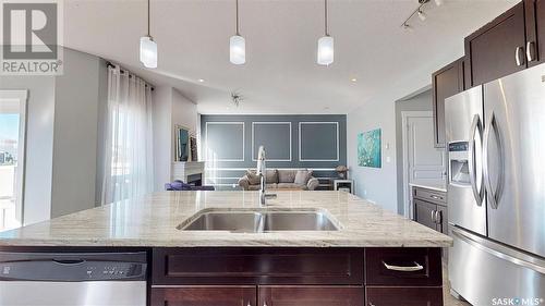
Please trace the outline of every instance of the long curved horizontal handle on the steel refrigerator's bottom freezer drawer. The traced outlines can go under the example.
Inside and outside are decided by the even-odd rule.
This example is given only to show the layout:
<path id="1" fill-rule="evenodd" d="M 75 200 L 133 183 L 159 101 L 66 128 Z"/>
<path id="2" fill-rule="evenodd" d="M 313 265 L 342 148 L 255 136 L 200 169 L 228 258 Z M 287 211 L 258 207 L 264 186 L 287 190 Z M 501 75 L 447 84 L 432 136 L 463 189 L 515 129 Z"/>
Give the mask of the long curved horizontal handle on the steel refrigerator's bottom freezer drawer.
<path id="1" fill-rule="evenodd" d="M 513 252 L 501 245 L 496 245 L 495 243 L 482 238 L 472 233 L 462 231 L 457 227 L 452 227 L 452 234 L 458 238 L 471 244 L 472 246 L 480 248 L 488 254 L 492 254 L 504 260 L 508 260 L 517 266 L 521 266 L 528 269 L 532 269 L 538 273 L 545 273 L 545 261 L 533 256 L 521 254 L 519 252 Z"/>

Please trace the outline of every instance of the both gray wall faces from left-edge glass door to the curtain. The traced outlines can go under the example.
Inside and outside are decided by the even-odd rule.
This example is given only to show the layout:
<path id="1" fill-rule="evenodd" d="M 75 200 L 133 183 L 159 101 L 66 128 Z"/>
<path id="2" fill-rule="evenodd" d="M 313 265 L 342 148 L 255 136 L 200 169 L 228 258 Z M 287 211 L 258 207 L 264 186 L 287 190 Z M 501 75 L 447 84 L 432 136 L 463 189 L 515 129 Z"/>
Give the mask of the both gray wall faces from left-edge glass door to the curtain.
<path id="1" fill-rule="evenodd" d="M 25 224 L 95 205 L 100 62 L 64 49 L 63 76 L 0 76 L 0 89 L 28 89 Z"/>

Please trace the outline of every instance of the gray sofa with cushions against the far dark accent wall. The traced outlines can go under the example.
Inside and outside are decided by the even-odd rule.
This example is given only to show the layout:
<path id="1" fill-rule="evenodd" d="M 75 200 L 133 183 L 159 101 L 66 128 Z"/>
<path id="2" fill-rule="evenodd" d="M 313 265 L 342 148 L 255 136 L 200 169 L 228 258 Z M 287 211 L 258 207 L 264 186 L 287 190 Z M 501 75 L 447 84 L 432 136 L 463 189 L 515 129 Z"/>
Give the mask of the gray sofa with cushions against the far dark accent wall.
<path id="1" fill-rule="evenodd" d="M 314 191 L 318 187 L 318 179 L 312 176 L 312 170 L 277 170 L 270 169 L 265 172 L 267 189 L 302 189 Z M 246 171 L 239 179 L 239 186 L 244 191 L 258 191 L 261 186 L 259 176 L 255 171 Z"/>

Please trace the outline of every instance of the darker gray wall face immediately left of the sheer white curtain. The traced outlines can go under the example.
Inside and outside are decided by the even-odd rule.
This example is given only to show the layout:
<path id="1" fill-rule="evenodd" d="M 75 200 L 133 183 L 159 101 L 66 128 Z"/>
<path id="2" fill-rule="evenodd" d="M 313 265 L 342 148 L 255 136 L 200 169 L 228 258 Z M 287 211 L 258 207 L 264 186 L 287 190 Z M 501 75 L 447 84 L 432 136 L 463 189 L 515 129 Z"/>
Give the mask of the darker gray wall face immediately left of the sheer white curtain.
<path id="1" fill-rule="evenodd" d="M 95 207 L 100 63 L 65 50 L 56 78 L 51 218 Z"/>

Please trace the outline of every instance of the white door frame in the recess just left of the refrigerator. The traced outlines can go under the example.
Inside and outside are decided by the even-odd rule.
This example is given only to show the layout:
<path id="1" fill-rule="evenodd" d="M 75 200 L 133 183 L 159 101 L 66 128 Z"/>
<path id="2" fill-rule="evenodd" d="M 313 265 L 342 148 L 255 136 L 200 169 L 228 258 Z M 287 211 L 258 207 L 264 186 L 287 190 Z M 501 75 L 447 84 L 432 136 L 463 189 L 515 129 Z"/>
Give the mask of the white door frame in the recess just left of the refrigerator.
<path id="1" fill-rule="evenodd" d="M 433 111 L 402 111 L 401 112 L 401 137 L 403 149 L 403 216 L 413 219 L 414 209 L 411 200 L 411 188 L 409 186 L 409 118 L 429 117 L 433 119 Z"/>

